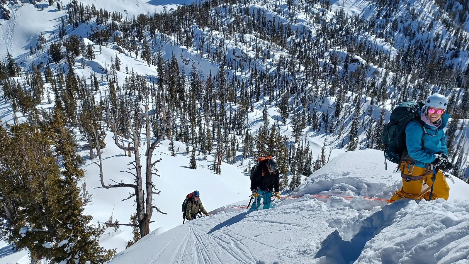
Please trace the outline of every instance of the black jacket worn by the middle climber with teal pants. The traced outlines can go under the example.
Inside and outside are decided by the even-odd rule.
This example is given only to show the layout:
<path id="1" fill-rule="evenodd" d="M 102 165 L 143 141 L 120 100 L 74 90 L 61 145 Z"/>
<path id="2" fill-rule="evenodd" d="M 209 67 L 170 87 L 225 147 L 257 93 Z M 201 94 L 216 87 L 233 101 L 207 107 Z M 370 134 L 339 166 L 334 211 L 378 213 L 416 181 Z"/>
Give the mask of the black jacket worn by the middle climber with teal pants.
<path id="1" fill-rule="evenodd" d="M 263 160 L 257 166 L 252 167 L 251 169 L 251 190 L 257 190 L 257 187 L 264 191 L 266 188 L 269 189 L 269 192 L 275 187 L 275 192 L 279 191 L 279 170 L 275 170 L 272 173 L 269 173 L 267 169 L 267 161 Z M 264 172 L 264 176 L 262 176 Z"/>

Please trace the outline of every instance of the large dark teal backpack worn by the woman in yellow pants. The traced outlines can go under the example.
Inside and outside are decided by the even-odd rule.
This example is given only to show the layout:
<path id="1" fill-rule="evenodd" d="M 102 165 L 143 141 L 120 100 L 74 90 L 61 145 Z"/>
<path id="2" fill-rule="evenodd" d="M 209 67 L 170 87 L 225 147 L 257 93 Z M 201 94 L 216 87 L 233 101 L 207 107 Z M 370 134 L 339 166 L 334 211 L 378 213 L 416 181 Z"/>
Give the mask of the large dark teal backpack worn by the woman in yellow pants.
<path id="1" fill-rule="evenodd" d="M 383 132 L 381 133 L 381 141 L 385 144 L 384 156 L 389 161 L 397 164 L 401 163 L 402 154 L 407 150 L 406 126 L 412 120 L 415 120 L 422 127 L 423 145 L 424 129 L 422 120 L 418 115 L 419 110 L 418 103 L 404 102 L 391 112 L 389 123 L 384 126 Z"/>

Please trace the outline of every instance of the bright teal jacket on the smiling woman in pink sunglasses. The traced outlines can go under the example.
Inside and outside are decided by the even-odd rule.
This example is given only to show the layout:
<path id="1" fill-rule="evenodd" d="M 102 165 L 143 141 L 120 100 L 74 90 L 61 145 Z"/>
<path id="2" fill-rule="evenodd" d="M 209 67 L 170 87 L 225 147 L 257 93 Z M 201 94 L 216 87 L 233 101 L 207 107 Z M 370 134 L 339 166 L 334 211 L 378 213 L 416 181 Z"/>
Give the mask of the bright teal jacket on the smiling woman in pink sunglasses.
<path id="1" fill-rule="evenodd" d="M 423 104 L 420 105 L 422 109 Z M 419 111 L 419 116 L 420 116 Z M 424 121 L 424 131 L 420 124 L 416 121 L 411 121 L 406 126 L 406 145 L 408 155 L 415 159 L 415 165 L 420 168 L 425 168 L 425 163 L 432 163 L 435 161 L 435 154 L 445 154 L 448 156 L 448 149 L 446 148 L 446 136 L 443 128 L 448 123 L 449 115 L 443 113 L 441 116 L 441 125 L 436 128 Z M 422 135 L 424 146 L 422 146 Z"/>

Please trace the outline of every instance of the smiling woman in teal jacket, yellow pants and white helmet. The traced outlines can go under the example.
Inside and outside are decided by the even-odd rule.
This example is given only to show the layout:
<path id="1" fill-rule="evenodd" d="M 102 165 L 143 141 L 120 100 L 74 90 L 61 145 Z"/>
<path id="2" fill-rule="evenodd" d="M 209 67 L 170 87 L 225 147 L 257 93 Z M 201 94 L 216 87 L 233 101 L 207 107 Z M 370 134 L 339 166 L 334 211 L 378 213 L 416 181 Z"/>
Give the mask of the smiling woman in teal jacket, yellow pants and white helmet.
<path id="1" fill-rule="evenodd" d="M 434 166 L 441 170 L 451 169 L 448 162 L 448 149 L 443 128 L 448 123 L 449 115 L 445 113 L 448 100 L 435 93 L 428 97 L 425 104 L 420 103 L 420 120 L 409 122 L 406 126 L 407 153 L 399 165 L 402 176 L 402 188 L 396 191 L 390 202 L 401 198 L 429 200 L 430 193 L 422 193 L 423 182 L 433 184 L 431 199 L 449 197 L 449 186 L 441 171 L 432 182 Z M 419 197 L 421 196 L 421 197 Z"/>

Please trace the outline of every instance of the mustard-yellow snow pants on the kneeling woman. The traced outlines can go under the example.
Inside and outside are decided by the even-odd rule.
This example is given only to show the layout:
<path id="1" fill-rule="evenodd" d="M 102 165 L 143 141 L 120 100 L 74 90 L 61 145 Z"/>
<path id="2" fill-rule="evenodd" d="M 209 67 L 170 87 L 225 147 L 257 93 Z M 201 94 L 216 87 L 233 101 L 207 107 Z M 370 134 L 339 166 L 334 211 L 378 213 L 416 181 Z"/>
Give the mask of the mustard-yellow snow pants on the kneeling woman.
<path id="1" fill-rule="evenodd" d="M 401 198 L 418 199 L 419 194 L 422 193 L 423 182 L 425 182 L 429 187 L 431 187 L 431 177 L 433 176 L 433 171 L 427 171 L 427 169 L 425 168 L 420 168 L 413 165 L 408 166 L 408 163 L 406 162 L 401 163 L 399 170 L 406 175 L 424 175 L 424 177 L 422 179 L 411 180 L 409 182 L 407 182 L 405 179 L 402 179 L 402 188 L 394 193 L 393 197 L 391 197 L 388 203 L 394 202 Z M 425 174 L 425 172 L 429 173 Z M 441 171 L 438 171 L 435 182 L 433 183 L 433 193 L 431 194 L 431 200 L 435 200 L 437 198 L 443 198 L 445 200 L 448 200 L 448 197 L 449 186 L 446 183 L 446 179 L 443 173 L 441 173 Z M 428 199 L 430 198 L 430 191 L 424 194 L 420 199 L 422 198 L 428 201 Z"/>

